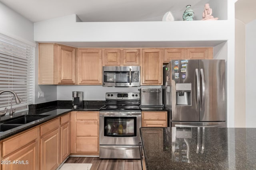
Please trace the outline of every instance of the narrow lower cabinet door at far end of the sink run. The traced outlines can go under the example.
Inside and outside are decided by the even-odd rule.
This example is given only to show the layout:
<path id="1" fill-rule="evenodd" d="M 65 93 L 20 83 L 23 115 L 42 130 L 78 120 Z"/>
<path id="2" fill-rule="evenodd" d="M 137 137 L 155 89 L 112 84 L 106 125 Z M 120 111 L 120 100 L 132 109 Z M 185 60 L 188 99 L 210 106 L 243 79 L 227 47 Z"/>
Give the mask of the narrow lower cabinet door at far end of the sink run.
<path id="1" fill-rule="evenodd" d="M 60 162 L 70 155 L 70 123 L 60 127 Z"/>

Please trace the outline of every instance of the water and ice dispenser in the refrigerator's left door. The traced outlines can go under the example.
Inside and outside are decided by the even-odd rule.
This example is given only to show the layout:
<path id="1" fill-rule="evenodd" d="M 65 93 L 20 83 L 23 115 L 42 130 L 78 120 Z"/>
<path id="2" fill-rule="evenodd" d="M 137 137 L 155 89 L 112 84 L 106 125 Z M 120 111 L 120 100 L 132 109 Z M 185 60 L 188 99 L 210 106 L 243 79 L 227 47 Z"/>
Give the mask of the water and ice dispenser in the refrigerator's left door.
<path id="1" fill-rule="evenodd" d="M 191 106 L 191 83 L 176 84 L 176 105 Z"/>

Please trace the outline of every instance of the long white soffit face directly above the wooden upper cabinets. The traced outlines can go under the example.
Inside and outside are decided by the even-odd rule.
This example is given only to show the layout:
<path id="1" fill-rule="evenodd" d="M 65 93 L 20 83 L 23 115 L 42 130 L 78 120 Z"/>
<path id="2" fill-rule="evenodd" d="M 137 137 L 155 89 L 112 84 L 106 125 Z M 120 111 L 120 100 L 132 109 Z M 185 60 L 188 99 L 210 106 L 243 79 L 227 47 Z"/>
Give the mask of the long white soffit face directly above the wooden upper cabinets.
<path id="1" fill-rule="evenodd" d="M 226 20 L 76 22 L 76 15 L 34 23 L 38 42 L 219 41 L 229 39 Z"/>

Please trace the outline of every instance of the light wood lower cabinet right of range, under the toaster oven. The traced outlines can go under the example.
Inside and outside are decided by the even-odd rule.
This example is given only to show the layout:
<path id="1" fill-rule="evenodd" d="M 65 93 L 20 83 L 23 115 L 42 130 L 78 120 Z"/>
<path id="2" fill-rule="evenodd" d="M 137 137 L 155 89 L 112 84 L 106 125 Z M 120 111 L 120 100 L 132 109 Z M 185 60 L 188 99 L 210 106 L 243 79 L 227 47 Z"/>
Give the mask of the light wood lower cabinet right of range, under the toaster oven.
<path id="1" fill-rule="evenodd" d="M 167 111 L 142 111 L 142 127 L 167 127 Z"/>

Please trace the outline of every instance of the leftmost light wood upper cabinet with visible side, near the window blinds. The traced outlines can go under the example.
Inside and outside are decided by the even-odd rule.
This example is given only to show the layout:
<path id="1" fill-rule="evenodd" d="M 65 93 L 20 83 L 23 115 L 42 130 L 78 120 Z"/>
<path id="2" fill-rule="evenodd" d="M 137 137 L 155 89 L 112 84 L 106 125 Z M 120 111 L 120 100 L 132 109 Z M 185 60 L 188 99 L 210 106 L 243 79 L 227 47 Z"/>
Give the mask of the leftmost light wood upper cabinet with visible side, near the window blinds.
<path id="1" fill-rule="evenodd" d="M 75 84 L 76 48 L 38 44 L 38 84 Z"/>

